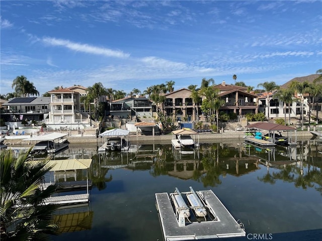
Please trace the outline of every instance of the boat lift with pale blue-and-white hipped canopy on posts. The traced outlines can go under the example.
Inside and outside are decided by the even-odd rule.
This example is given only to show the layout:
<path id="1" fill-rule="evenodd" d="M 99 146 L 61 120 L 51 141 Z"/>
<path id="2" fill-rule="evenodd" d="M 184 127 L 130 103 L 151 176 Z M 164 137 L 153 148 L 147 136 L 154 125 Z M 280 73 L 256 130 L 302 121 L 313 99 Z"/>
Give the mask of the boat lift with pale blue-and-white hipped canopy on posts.
<path id="1" fill-rule="evenodd" d="M 103 138 L 103 141 L 100 142 L 101 146 L 99 147 L 99 151 L 112 150 L 113 145 L 109 144 L 109 140 L 118 140 L 121 151 L 127 151 L 130 148 L 130 140 L 129 140 L 130 131 L 123 129 L 112 129 L 105 131 L 99 135 L 100 138 Z M 112 148 L 111 148 L 112 147 Z"/>

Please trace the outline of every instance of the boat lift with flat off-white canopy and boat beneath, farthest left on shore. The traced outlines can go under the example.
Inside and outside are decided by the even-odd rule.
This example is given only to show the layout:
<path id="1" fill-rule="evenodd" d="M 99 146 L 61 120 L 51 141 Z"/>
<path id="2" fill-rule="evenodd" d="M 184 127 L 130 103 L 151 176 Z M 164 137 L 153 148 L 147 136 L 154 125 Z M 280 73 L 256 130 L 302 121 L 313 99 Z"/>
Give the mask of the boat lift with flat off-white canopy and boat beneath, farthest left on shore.
<path id="1" fill-rule="evenodd" d="M 47 133 L 41 136 L 36 136 L 32 138 L 24 139 L 23 141 L 36 142 L 32 152 L 46 152 L 47 153 L 57 153 L 63 149 L 66 149 L 69 145 L 66 137 L 68 134 L 63 133 Z"/>

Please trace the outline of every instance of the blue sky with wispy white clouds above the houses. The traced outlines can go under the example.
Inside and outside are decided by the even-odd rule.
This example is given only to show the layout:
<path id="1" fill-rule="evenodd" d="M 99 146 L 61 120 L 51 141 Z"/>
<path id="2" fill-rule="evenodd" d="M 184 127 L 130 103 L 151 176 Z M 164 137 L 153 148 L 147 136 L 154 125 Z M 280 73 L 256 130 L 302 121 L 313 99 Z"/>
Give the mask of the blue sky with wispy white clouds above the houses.
<path id="1" fill-rule="evenodd" d="M 255 88 L 322 68 L 321 1 L 1 1 L 1 94 L 56 86 Z"/>

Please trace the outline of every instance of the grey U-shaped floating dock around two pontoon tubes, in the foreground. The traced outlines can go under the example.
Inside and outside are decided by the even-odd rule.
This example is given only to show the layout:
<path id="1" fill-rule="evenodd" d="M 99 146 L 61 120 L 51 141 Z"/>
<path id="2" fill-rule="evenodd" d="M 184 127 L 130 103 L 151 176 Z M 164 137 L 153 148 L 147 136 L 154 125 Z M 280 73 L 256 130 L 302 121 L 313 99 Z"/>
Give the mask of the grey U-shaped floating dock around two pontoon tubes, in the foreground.
<path id="1" fill-rule="evenodd" d="M 182 192 L 182 194 L 187 193 Z M 215 214 L 215 218 L 209 221 L 192 222 L 185 218 L 184 225 L 180 225 L 182 220 L 180 218 L 178 220 L 169 194 L 155 193 L 165 241 L 246 236 L 244 225 L 233 218 L 212 190 L 196 193 L 201 197 L 207 212 Z"/>

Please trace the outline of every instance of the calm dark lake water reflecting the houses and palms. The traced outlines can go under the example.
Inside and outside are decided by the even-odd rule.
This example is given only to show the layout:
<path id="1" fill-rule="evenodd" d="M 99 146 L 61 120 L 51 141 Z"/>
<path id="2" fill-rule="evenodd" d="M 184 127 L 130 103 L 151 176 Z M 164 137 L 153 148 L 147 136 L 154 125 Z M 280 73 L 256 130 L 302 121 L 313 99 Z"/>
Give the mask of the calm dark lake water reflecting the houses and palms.
<path id="1" fill-rule="evenodd" d="M 92 158 L 93 189 L 88 207 L 57 212 L 73 213 L 74 227 L 84 230 L 64 232 L 53 240 L 163 240 L 154 193 L 176 187 L 188 191 L 189 186 L 212 189 L 247 233 L 322 228 L 322 142 L 275 149 L 243 141 L 212 143 L 182 153 L 171 145 L 137 148 L 98 154 L 95 147 L 70 144 L 55 156 Z M 86 174 L 77 171 L 76 178 L 86 179 Z"/>

